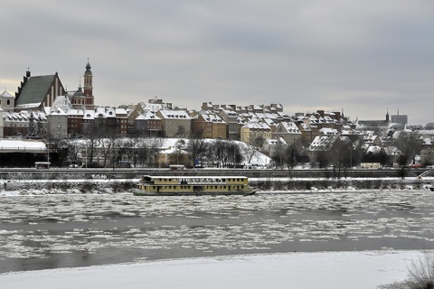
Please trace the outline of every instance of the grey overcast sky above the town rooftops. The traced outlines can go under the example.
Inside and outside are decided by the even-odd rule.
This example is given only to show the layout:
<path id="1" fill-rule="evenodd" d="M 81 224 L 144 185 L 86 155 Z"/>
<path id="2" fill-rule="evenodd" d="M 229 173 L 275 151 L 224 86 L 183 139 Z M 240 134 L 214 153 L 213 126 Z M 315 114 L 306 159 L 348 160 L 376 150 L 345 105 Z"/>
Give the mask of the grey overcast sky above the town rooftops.
<path id="1" fill-rule="evenodd" d="M 89 58 L 97 105 L 434 122 L 432 0 L 5 0 L 0 19 L 0 86 L 13 95 L 27 68 L 76 89 Z"/>

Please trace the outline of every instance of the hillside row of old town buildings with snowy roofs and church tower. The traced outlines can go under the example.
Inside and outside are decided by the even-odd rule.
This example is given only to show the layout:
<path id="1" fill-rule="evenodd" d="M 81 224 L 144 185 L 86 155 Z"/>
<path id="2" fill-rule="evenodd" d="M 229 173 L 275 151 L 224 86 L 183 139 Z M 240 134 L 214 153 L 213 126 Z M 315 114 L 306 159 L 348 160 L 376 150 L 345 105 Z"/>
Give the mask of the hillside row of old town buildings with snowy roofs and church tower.
<path id="1" fill-rule="evenodd" d="M 83 87 L 66 90 L 56 72 L 32 76 L 26 71 L 15 95 L 0 94 L 0 137 L 63 139 L 103 134 L 143 137 L 195 137 L 239 140 L 266 154 L 278 145 L 299 141 L 312 152 L 326 149 L 337 138 L 369 147 L 392 146 L 391 132 L 402 131 L 407 116 L 355 120 L 344 112 L 317 110 L 289 116 L 277 103 L 237 106 L 203 102 L 201 109 L 174 107 L 163 99 L 122 107 L 97 107 L 90 62 Z M 389 143 L 388 143 L 389 142 Z M 426 142 L 425 142 L 426 143 Z M 427 143 L 428 144 L 428 143 Z M 428 146 L 427 146 L 428 147 Z"/>

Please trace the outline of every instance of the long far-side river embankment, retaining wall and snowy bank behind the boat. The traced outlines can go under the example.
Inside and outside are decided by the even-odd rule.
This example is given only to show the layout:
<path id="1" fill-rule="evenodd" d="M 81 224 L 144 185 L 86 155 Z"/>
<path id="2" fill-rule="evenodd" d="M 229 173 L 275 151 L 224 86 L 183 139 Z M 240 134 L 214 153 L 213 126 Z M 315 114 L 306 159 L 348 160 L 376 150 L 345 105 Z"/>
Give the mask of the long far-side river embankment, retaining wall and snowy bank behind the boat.
<path id="1" fill-rule="evenodd" d="M 324 170 L 8 170 L 0 171 L 1 191 L 116 193 L 131 191 L 144 175 L 245 175 L 260 191 L 428 190 L 427 171 L 352 170 L 334 177 Z M 423 176 L 420 176 L 423 175 Z"/>

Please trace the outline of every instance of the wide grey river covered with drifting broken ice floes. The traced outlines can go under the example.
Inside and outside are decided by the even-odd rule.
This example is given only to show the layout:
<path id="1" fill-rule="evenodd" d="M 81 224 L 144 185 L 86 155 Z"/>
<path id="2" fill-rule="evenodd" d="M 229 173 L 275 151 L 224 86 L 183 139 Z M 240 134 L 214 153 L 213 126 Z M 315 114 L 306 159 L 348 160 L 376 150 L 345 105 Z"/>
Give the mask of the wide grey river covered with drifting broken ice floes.
<path id="1" fill-rule="evenodd" d="M 0 200 L 0 273 L 193 256 L 434 248 L 428 190 Z"/>

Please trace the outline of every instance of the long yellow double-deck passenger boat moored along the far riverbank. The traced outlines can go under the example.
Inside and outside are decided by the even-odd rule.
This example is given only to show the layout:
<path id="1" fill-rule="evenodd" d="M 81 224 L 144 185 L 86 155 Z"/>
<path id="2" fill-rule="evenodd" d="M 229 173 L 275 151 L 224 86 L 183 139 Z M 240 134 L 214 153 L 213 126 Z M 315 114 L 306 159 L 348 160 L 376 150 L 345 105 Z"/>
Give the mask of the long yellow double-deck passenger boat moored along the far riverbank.
<path id="1" fill-rule="evenodd" d="M 137 196 L 252 195 L 257 190 L 241 176 L 143 176 Z"/>

